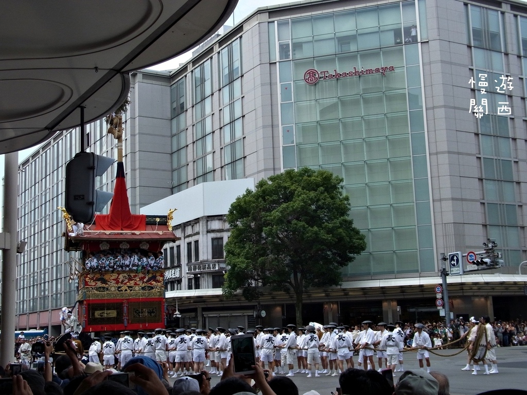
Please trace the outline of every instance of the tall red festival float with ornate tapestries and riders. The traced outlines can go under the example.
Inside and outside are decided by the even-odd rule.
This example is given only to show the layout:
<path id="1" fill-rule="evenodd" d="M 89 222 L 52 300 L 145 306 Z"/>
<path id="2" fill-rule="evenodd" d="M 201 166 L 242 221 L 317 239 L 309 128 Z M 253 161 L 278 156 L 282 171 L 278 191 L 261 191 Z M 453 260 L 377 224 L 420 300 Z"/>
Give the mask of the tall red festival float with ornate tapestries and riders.
<path id="1" fill-rule="evenodd" d="M 165 215 L 132 214 L 122 159 L 122 117 L 106 120 L 118 141 L 118 163 L 109 214 L 74 223 L 64 208 L 66 251 L 80 251 L 72 273 L 79 281 L 78 317 L 83 332 L 154 330 L 164 327 L 163 245 L 179 240 L 172 231 L 175 209 Z"/>

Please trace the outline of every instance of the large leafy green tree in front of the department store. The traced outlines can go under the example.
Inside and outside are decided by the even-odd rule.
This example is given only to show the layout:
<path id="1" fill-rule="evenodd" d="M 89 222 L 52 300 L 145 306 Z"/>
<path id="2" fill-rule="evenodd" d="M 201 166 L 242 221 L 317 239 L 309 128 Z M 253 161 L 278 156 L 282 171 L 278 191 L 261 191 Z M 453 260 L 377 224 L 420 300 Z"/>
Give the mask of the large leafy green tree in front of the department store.
<path id="1" fill-rule="evenodd" d="M 260 297 L 261 287 L 292 292 L 301 325 L 304 290 L 339 285 L 340 269 L 366 249 L 364 235 L 348 218 L 343 181 L 304 167 L 260 180 L 255 191 L 239 196 L 227 214 L 223 294 L 242 289 L 250 301 Z"/>

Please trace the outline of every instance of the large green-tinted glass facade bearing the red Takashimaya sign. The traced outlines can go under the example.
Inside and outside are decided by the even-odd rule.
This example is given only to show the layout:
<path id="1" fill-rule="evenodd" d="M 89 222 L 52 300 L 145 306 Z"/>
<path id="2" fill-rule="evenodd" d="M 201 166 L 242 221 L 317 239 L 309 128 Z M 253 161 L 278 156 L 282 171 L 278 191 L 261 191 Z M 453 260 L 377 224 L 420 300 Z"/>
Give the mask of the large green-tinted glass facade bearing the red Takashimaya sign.
<path id="1" fill-rule="evenodd" d="M 269 24 L 283 168 L 343 177 L 366 235 L 345 275 L 434 270 L 418 9 L 409 1 Z M 331 76 L 308 83 L 309 70 Z"/>

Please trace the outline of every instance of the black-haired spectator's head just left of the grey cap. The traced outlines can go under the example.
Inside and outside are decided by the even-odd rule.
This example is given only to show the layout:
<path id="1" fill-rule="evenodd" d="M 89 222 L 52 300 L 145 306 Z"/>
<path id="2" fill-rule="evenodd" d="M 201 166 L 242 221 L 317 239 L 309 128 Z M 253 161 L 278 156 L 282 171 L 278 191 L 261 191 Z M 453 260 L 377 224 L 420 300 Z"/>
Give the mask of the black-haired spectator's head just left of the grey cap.
<path id="1" fill-rule="evenodd" d="M 392 395 L 393 389 L 376 370 L 346 369 L 338 379 L 341 393 L 361 395 Z"/>

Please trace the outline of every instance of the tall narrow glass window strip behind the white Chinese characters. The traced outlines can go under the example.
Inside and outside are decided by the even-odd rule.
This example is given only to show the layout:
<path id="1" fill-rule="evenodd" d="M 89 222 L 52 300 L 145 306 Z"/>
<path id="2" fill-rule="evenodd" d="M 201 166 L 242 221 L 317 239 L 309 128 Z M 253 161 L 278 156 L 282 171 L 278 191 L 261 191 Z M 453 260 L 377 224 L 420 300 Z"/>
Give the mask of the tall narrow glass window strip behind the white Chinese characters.
<path id="1" fill-rule="evenodd" d="M 521 262 L 521 212 L 519 204 L 520 175 L 515 163 L 515 140 L 511 134 L 511 114 L 500 114 L 503 103 L 512 103 L 512 88 L 505 78 L 504 48 L 513 46 L 505 42 L 504 15 L 495 9 L 465 5 L 469 44 L 472 50 L 474 100 L 485 105 L 485 114 L 479 118 L 480 168 L 483 184 L 482 202 L 485 208 L 485 228 L 490 238 L 500 240 L 504 262 Z M 520 53 L 523 54 L 522 25 L 527 19 L 519 16 Z M 525 59 L 525 58 L 523 58 Z M 516 86 L 520 89 L 520 86 Z"/>

